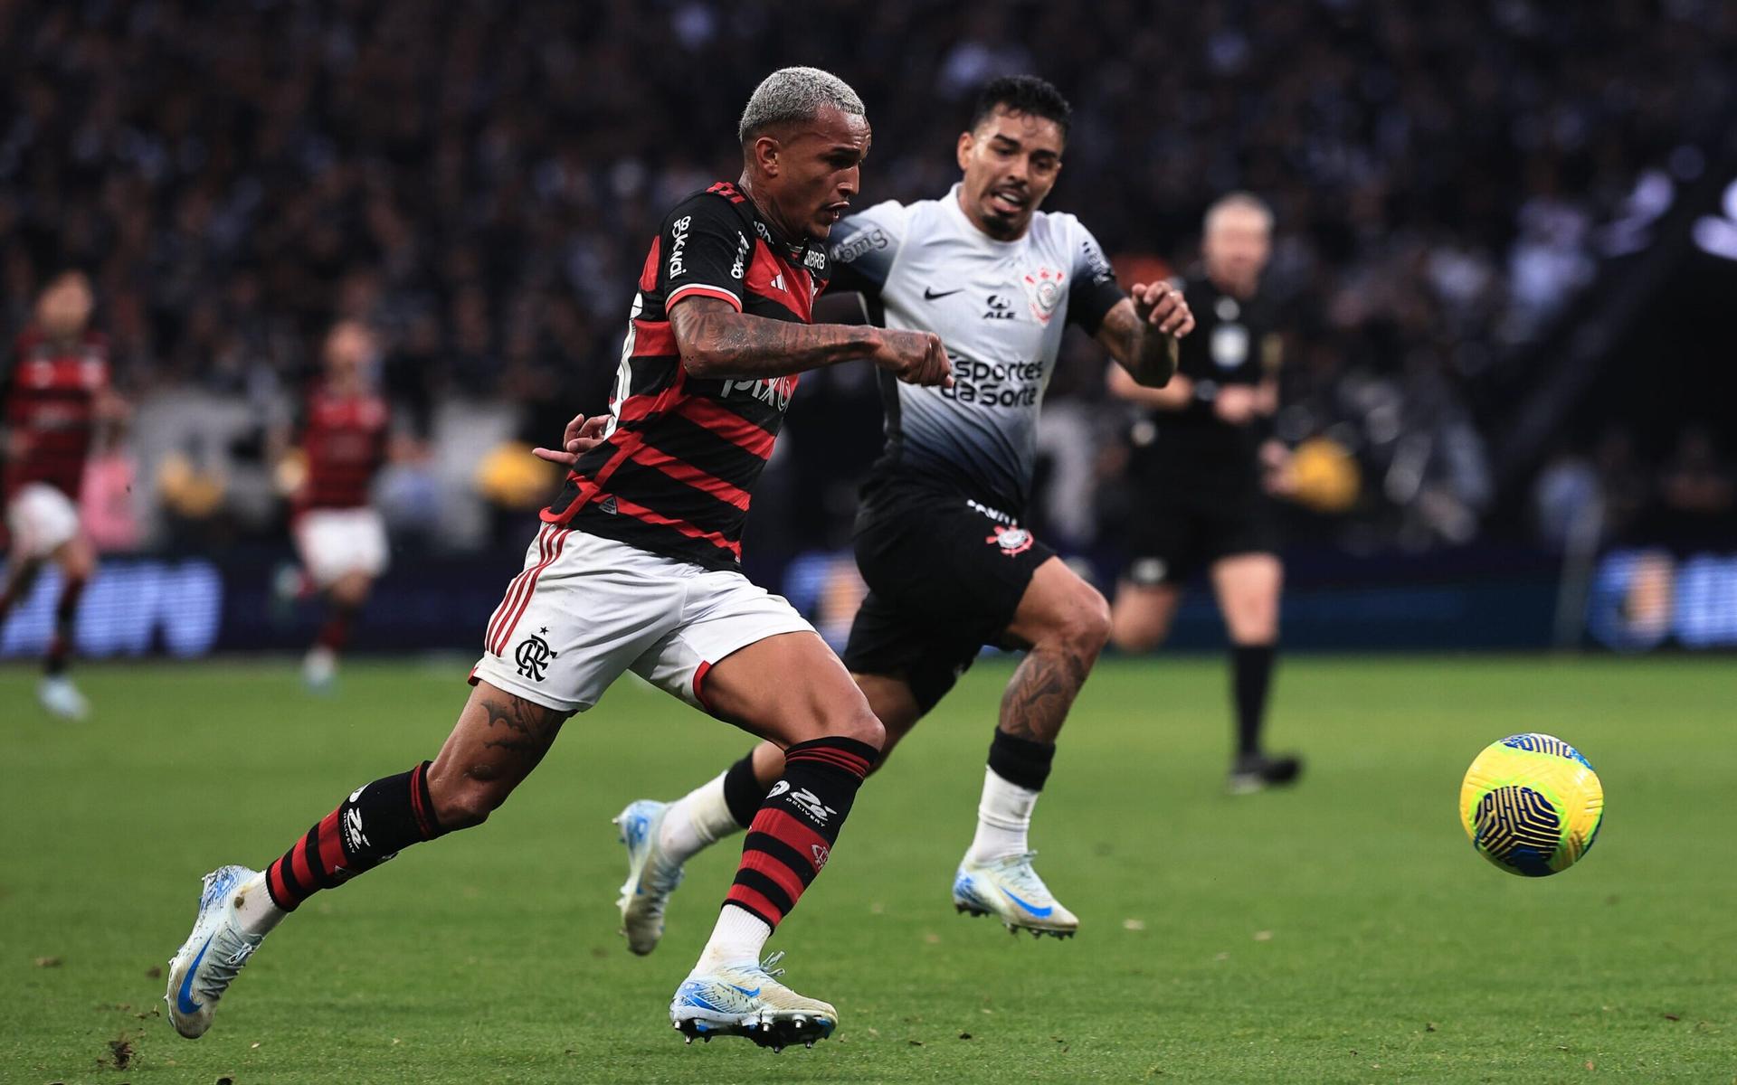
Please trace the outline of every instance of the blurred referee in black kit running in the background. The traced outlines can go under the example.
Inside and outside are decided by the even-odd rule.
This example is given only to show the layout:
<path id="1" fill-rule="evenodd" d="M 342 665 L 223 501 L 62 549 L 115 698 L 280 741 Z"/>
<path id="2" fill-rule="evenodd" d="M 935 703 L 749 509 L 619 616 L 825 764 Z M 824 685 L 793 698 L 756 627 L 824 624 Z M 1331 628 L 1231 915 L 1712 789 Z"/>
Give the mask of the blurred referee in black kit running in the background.
<path id="1" fill-rule="evenodd" d="M 1167 387 L 1139 387 L 1110 368 L 1110 391 L 1145 408 L 1133 432 L 1129 477 L 1138 488 L 1131 561 L 1117 585 L 1112 637 L 1150 651 L 1169 634 L 1188 578 L 1205 571 L 1230 634 L 1237 757 L 1230 790 L 1291 783 L 1296 757 L 1261 748 L 1278 648 L 1278 540 L 1263 464 L 1278 410 L 1280 337 L 1259 293 L 1273 215 L 1247 193 L 1205 214 L 1202 266 L 1183 293 L 1199 330 L 1183 342 Z M 1282 453 L 1280 453 L 1282 455 Z"/>

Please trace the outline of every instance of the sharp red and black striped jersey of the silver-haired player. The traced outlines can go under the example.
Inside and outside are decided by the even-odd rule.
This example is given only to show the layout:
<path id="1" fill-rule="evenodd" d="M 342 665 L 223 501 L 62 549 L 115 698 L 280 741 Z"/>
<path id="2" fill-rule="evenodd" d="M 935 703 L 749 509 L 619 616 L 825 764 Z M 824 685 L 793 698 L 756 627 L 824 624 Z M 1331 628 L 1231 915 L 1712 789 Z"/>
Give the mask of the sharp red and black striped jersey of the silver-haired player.
<path id="1" fill-rule="evenodd" d="M 809 323 L 827 252 L 789 241 L 736 186 L 679 203 L 651 241 L 601 444 L 568 472 L 542 517 L 709 569 L 742 561 L 754 483 L 771 457 L 796 377 L 690 377 L 669 309 L 712 297 L 742 312 Z"/>

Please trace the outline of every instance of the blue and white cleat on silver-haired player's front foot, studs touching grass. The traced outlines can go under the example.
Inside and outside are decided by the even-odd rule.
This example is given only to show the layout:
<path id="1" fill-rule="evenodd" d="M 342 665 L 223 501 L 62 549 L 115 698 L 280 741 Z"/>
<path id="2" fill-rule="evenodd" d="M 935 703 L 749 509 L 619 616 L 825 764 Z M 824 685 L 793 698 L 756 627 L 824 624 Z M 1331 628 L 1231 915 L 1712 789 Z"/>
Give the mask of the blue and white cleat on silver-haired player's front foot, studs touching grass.
<path id="1" fill-rule="evenodd" d="M 695 965 L 676 988 L 669 1023 L 688 1043 L 712 1036 L 747 1036 L 780 1052 L 792 1043 L 813 1047 L 839 1024 L 839 1012 L 818 998 L 804 998 L 778 983 L 783 953 L 761 963 Z"/>

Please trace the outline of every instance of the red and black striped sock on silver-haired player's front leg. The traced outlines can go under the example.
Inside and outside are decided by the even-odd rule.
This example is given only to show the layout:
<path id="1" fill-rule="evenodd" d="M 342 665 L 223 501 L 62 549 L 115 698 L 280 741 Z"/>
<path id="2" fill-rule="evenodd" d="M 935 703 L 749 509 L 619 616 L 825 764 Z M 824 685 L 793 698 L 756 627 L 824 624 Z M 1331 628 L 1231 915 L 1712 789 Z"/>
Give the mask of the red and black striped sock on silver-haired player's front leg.
<path id="1" fill-rule="evenodd" d="M 816 738 L 783 752 L 742 844 L 742 866 L 726 904 L 776 929 L 832 856 L 856 788 L 881 752 L 853 738 Z"/>

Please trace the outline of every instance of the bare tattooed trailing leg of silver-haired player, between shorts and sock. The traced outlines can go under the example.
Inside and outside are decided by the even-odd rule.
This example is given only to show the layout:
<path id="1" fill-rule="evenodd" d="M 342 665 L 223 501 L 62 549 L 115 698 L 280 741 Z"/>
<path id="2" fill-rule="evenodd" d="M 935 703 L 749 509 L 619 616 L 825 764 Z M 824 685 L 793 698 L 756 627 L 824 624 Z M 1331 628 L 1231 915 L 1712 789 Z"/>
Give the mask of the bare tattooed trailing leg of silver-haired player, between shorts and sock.
<path id="1" fill-rule="evenodd" d="M 429 795 L 441 828 L 481 825 L 530 776 L 570 715 L 478 682 L 429 766 Z"/>

